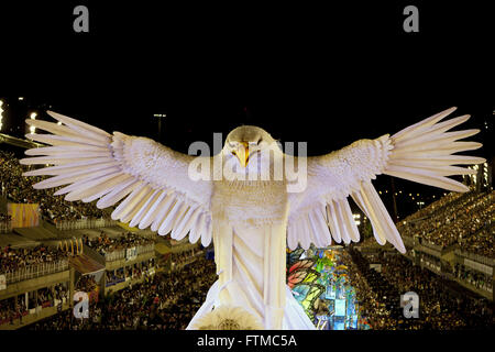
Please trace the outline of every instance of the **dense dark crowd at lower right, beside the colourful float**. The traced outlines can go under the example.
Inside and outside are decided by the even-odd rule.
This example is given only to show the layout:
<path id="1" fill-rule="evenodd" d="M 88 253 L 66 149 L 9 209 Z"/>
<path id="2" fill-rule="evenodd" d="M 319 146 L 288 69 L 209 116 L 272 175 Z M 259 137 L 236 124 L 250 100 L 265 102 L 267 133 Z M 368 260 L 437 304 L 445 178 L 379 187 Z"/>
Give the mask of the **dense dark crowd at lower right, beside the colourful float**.
<path id="1" fill-rule="evenodd" d="M 493 323 L 493 302 L 486 299 L 457 295 L 452 283 L 426 268 L 411 265 L 399 254 L 364 256 L 350 250 L 355 265 L 352 283 L 356 285 L 363 315 L 378 330 L 455 330 L 490 329 Z M 381 272 L 370 267 L 382 264 Z M 399 297 L 415 292 L 420 298 L 419 319 L 405 319 Z"/>

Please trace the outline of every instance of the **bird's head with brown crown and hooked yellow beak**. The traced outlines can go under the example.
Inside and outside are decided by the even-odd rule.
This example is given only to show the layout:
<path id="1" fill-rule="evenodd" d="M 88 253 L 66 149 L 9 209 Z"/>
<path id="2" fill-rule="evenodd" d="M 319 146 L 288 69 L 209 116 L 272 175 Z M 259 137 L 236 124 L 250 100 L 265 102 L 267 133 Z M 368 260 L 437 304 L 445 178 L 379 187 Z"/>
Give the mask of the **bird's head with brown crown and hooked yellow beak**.
<path id="1" fill-rule="evenodd" d="M 265 130 L 254 125 L 241 125 L 232 130 L 223 146 L 224 154 L 233 155 L 242 167 L 263 151 L 274 146 L 276 141 Z"/>

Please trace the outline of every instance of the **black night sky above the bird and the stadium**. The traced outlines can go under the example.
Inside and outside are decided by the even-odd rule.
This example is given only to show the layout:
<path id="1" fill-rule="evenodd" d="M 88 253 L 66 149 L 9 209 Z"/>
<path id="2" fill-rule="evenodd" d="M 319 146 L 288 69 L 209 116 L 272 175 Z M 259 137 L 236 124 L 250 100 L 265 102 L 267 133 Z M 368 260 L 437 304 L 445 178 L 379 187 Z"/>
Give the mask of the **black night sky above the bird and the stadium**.
<path id="1" fill-rule="evenodd" d="M 24 134 L 30 111 L 51 108 L 182 152 L 256 124 L 318 155 L 457 106 L 457 116 L 473 116 L 463 128 L 483 130 L 471 140 L 485 146 L 471 154 L 493 157 L 495 31 L 482 7 L 6 2 L 0 98 L 11 134 Z M 89 33 L 73 31 L 77 4 L 89 9 Z M 419 8 L 419 33 L 403 31 L 407 4 Z M 154 113 L 166 113 L 161 138 Z M 389 179 L 375 185 L 389 189 Z M 396 188 L 442 194 L 400 180 Z M 399 201 L 399 216 L 409 202 Z"/>

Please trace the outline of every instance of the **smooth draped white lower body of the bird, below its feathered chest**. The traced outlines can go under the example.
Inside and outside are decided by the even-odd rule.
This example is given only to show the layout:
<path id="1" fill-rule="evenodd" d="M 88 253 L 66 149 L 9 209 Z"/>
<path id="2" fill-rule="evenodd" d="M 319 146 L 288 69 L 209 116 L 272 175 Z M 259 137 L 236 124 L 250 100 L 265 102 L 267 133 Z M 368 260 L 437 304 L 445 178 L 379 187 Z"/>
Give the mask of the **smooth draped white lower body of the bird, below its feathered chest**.
<path id="1" fill-rule="evenodd" d="M 226 226 L 215 237 L 221 243 L 215 248 L 219 279 L 188 329 L 198 318 L 223 305 L 244 308 L 265 329 L 315 329 L 286 285 L 285 227 Z"/>

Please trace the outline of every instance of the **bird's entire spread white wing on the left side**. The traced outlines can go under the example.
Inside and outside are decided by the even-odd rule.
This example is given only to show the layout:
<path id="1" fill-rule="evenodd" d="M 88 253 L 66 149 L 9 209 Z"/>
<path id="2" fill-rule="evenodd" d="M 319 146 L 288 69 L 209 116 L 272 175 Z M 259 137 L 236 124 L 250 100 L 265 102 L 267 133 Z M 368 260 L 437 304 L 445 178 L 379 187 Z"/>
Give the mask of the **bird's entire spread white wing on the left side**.
<path id="1" fill-rule="evenodd" d="M 36 189 L 68 185 L 55 195 L 84 202 L 99 199 L 102 209 L 118 204 L 111 217 L 172 238 L 208 245 L 211 241 L 210 198 L 212 185 L 191 180 L 188 165 L 194 156 L 182 154 L 150 139 L 113 135 L 48 111 L 58 120 L 52 123 L 26 120 L 30 125 L 52 134 L 28 134 L 31 140 L 52 146 L 31 148 L 21 164 L 51 164 L 24 176 L 54 176 L 35 184 Z"/>

